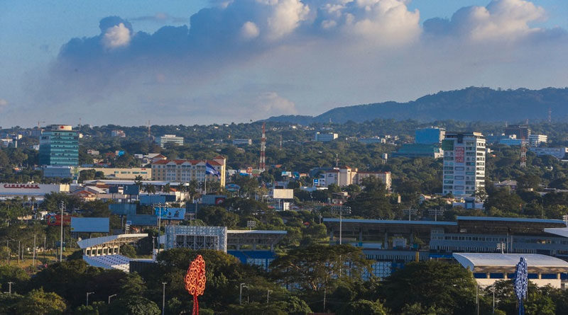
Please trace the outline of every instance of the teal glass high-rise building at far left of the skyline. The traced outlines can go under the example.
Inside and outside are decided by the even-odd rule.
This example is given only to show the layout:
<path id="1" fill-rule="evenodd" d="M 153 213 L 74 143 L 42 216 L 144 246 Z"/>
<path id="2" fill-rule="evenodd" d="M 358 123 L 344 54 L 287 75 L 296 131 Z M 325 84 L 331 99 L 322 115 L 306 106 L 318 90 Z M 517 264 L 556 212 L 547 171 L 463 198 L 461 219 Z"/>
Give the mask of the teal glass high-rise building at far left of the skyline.
<path id="1" fill-rule="evenodd" d="M 40 136 L 40 165 L 77 166 L 79 132 L 70 125 L 51 125 Z"/>

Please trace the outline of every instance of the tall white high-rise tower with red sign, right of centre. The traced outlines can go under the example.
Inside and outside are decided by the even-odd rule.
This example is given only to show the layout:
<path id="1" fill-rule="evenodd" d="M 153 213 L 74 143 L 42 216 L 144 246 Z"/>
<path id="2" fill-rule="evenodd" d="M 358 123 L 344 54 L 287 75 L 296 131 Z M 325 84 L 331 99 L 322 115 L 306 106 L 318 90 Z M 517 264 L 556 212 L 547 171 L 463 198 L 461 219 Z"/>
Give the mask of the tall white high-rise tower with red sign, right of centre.
<path id="1" fill-rule="evenodd" d="M 446 132 L 442 140 L 442 192 L 456 197 L 475 195 L 485 188 L 485 138 L 481 132 Z"/>

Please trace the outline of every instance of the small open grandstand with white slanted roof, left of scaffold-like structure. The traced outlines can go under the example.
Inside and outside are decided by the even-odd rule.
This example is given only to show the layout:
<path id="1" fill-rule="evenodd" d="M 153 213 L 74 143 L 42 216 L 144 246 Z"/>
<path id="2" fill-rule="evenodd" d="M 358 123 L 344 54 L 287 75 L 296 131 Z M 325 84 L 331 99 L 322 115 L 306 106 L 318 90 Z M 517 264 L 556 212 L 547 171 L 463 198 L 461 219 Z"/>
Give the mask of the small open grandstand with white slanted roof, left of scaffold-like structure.
<path id="1" fill-rule="evenodd" d="M 120 246 L 135 243 L 148 234 L 119 234 L 82 239 L 77 244 L 83 251 L 83 260 L 94 267 L 130 270 L 131 258 L 120 254 Z"/>

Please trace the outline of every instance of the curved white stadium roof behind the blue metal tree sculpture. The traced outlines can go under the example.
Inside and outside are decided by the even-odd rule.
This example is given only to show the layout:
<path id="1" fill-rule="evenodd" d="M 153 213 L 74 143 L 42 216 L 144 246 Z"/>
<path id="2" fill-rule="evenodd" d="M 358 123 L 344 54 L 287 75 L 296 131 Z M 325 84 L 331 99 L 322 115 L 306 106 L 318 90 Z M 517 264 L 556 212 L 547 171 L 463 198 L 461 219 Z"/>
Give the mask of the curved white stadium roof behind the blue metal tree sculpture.
<path id="1" fill-rule="evenodd" d="M 562 259 L 537 253 L 454 253 L 454 258 L 474 273 L 491 273 L 498 270 L 515 272 L 521 257 L 527 260 L 531 273 L 566 273 L 568 263 Z"/>

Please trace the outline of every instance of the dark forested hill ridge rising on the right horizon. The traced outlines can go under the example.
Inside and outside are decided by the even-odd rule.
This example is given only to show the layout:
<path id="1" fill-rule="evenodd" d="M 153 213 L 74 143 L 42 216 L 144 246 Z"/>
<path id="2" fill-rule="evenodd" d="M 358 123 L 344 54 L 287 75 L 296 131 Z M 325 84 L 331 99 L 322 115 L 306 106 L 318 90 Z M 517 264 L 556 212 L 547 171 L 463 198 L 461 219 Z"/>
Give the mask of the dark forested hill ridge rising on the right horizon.
<path id="1" fill-rule="evenodd" d="M 364 122 L 366 120 L 395 119 L 460 121 L 510 121 L 546 120 L 548 110 L 552 120 L 568 118 L 568 88 L 543 88 L 529 90 L 493 90 L 469 87 L 457 91 L 440 91 L 422 96 L 407 103 L 384 102 L 366 105 L 339 107 L 322 115 L 285 115 L 268 118 L 266 121 L 292 122 L 309 125 L 312 122 Z"/>

